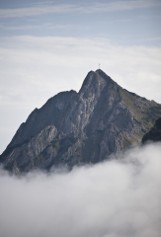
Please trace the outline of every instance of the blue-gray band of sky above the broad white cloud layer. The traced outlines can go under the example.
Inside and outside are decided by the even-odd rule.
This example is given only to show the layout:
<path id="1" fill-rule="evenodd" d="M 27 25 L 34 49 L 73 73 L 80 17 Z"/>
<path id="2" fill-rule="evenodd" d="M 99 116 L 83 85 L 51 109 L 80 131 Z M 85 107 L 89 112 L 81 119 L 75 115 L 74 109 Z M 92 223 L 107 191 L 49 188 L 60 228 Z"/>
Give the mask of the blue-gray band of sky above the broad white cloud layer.
<path id="1" fill-rule="evenodd" d="M 160 0 L 1 1 L 1 36 L 104 37 L 161 43 Z"/>

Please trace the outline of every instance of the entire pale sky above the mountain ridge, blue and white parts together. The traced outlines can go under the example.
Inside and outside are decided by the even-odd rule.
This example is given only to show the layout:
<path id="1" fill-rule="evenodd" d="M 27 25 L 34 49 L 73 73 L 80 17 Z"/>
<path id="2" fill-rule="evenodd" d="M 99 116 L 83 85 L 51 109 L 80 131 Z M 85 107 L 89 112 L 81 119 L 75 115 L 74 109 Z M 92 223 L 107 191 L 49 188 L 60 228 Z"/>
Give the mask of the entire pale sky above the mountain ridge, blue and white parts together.
<path id="1" fill-rule="evenodd" d="M 35 107 L 98 64 L 161 103 L 161 1 L 0 0 L 0 153 Z"/>

